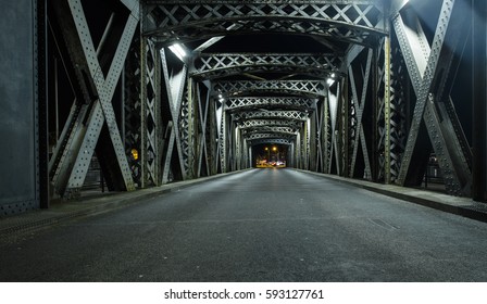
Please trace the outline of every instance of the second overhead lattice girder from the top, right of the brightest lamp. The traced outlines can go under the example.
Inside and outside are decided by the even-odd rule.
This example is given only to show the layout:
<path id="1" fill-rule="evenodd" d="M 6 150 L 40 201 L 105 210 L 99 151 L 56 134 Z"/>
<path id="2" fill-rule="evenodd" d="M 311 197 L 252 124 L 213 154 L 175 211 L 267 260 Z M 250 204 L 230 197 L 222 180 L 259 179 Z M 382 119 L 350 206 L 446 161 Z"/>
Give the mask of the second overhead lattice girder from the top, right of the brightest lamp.
<path id="1" fill-rule="evenodd" d="M 205 53 L 195 59 L 195 69 L 190 75 L 199 79 L 215 79 L 244 73 L 278 72 L 323 79 L 337 73 L 341 64 L 342 56 L 336 53 Z"/>

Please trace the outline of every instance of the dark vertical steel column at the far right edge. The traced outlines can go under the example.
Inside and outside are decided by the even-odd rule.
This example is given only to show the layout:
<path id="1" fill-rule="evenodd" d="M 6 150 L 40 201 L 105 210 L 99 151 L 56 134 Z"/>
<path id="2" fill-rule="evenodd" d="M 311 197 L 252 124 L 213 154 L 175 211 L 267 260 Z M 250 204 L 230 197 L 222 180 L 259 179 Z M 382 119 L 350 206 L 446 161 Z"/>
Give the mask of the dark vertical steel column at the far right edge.
<path id="1" fill-rule="evenodd" d="M 485 0 L 473 0 L 473 124 L 472 199 L 487 200 L 487 39 Z"/>

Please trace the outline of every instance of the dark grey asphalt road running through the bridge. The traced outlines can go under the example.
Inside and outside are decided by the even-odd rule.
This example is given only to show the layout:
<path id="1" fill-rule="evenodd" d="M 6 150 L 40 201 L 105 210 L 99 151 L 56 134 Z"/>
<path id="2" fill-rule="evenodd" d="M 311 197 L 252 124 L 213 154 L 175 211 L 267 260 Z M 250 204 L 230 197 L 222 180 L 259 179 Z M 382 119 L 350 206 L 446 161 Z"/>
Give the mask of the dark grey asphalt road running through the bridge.
<path id="1" fill-rule="evenodd" d="M 0 244 L 0 281 L 487 281 L 487 224 L 253 169 Z"/>

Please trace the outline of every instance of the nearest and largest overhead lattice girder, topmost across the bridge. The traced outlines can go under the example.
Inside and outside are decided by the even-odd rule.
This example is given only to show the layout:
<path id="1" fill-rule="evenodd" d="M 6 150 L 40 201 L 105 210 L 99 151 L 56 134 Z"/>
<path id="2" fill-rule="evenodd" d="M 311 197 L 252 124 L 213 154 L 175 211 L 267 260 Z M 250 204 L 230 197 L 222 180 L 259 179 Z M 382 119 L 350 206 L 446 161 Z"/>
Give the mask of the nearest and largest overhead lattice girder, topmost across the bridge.
<path id="1" fill-rule="evenodd" d="M 369 1 L 145 1 L 143 35 L 157 41 L 199 40 L 239 33 L 289 33 L 366 45 L 384 35 L 382 0 Z M 228 29 L 229 24 L 237 29 Z"/>

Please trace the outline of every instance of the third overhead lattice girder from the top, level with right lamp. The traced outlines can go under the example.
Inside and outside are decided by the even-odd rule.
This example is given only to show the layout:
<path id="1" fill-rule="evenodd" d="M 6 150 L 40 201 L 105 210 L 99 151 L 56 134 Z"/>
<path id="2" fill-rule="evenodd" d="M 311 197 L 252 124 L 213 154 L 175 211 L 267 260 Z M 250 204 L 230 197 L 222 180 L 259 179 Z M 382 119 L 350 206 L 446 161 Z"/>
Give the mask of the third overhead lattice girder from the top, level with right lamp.
<path id="1" fill-rule="evenodd" d="M 259 92 L 317 98 L 325 96 L 326 85 L 322 80 L 215 81 L 212 84 L 212 91 L 228 98 Z"/>

